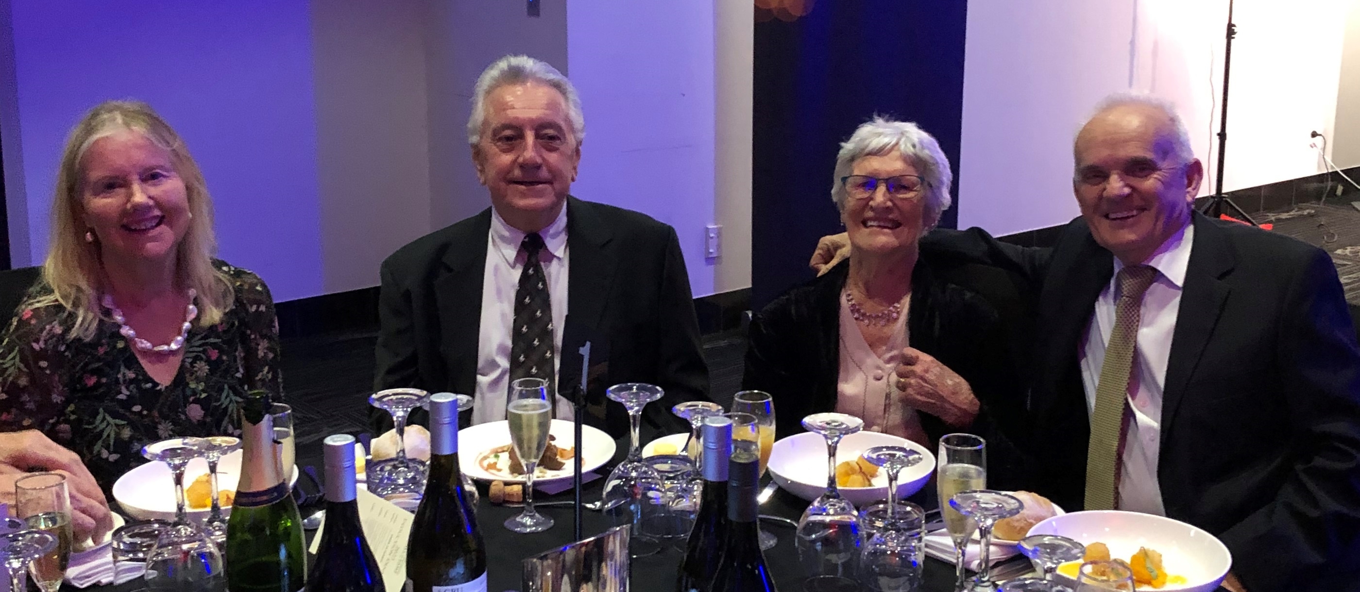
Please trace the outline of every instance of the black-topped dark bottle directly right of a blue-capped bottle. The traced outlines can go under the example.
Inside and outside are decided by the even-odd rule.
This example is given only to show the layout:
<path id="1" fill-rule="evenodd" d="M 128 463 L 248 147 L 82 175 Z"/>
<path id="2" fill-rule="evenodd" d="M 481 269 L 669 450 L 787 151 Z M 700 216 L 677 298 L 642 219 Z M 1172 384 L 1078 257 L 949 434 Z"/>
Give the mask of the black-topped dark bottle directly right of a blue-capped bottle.
<path id="1" fill-rule="evenodd" d="M 713 576 L 711 592 L 772 592 L 774 578 L 766 569 L 760 551 L 760 531 L 756 530 L 759 502 L 756 487 L 760 482 L 760 455 L 747 449 L 733 449 L 728 464 L 728 540 L 722 559 Z"/>

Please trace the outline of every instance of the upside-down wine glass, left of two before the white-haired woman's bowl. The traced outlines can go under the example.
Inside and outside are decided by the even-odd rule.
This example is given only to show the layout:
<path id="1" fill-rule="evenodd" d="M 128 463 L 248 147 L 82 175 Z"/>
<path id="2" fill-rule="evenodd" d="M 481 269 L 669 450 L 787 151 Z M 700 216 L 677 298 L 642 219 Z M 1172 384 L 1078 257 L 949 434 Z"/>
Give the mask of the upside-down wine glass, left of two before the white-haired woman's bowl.
<path id="1" fill-rule="evenodd" d="M 808 592 L 855 591 L 860 558 L 860 520 L 854 504 L 836 489 L 836 447 L 840 439 L 864 429 L 864 420 L 845 413 L 815 413 L 802 426 L 827 441 L 827 490 L 798 519 L 798 562 Z"/>

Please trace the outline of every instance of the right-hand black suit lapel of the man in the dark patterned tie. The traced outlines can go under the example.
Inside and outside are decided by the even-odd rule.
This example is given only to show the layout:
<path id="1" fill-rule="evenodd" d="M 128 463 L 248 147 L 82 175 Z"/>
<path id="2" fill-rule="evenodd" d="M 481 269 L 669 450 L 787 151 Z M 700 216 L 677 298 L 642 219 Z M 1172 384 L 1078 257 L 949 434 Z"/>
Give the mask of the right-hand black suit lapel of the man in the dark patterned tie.
<path id="1" fill-rule="evenodd" d="M 616 255 L 609 250 L 613 232 L 594 206 L 567 198 L 567 318 L 594 333 L 608 334 L 604 310 L 613 282 Z"/>

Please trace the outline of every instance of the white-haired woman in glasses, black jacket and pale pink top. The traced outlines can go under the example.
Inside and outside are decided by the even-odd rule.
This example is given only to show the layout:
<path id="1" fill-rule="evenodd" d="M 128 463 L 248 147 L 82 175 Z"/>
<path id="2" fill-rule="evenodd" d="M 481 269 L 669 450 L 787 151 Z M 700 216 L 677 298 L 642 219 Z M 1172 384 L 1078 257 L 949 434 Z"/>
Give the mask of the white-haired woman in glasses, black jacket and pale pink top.
<path id="1" fill-rule="evenodd" d="M 949 432 L 989 432 L 993 399 L 1023 401 L 1000 312 L 1013 301 L 998 310 L 991 293 L 1023 295 L 1024 276 L 985 253 L 921 242 L 949 208 L 952 181 L 940 144 L 915 124 L 876 117 L 840 144 L 831 198 L 849 258 L 751 322 L 743 388 L 778 399 L 779 433 L 839 411 L 932 447 Z M 896 380 L 898 365 L 911 377 Z"/>

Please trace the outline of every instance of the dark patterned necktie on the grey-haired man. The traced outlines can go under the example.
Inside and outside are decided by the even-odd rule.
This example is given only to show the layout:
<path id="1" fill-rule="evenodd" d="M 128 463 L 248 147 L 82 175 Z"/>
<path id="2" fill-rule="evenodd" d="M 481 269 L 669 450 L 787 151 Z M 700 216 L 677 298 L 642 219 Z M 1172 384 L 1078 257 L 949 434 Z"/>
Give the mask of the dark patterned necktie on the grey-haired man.
<path id="1" fill-rule="evenodd" d="M 548 278 L 539 263 L 543 236 L 525 235 L 520 248 L 529 255 L 520 272 L 520 288 L 514 293 L 514 325 L 510 337 L 510 382 L 524 377 L 544 379 L 548 392 L 556 392 L 552 364 L 552 299 Z"/>

